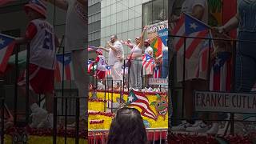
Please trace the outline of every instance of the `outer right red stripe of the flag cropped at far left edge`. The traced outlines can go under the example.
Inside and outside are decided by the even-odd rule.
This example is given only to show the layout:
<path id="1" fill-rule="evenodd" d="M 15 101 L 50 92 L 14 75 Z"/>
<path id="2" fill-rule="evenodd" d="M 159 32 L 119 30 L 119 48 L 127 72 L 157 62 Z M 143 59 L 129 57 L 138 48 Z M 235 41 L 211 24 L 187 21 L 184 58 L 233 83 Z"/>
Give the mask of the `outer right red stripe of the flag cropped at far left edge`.
<path id="1" fill-rule="evenodd" d="M 4 72 L 6 70 L 6 66 L 10 58 L 10 55 L 13 53 L 14 46 L 15 46 L 15 42 L 12 42 L 7 48 L 5 48 L 6 53 L 4 58 L 2 58 L 2 63 L 0 63 L 0 72 Z"/>

